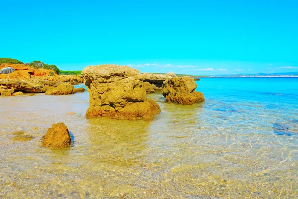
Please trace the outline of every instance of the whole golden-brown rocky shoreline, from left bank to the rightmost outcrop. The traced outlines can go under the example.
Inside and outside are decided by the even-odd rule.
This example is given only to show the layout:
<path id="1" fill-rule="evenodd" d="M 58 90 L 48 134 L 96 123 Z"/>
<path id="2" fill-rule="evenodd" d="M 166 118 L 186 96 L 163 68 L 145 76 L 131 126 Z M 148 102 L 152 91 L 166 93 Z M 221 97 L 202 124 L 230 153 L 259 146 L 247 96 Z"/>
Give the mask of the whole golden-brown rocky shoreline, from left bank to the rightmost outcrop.
<path id="1" fill-rule="evenodd" d="M 82 75 L 58 75 L 53 70 L 35 69 L 25 64 L 0 64 L 0 69 L 13 67 L 14 72 L 0 74 L 0 95 L 23 96 L 72 95 L 84 92 L 73 85 L 84 83 L 89 92 L 87 118 L 110 117 L 127 120 L 152 120 L 160 112 L 159 105 L 147 99 L 148 93 L 161 91 L 166 102 L 193 104 L 204 101 L 196 92 L 193 78 L 174 73 L 151 74 L 114 64 L 88 66 Z"/>

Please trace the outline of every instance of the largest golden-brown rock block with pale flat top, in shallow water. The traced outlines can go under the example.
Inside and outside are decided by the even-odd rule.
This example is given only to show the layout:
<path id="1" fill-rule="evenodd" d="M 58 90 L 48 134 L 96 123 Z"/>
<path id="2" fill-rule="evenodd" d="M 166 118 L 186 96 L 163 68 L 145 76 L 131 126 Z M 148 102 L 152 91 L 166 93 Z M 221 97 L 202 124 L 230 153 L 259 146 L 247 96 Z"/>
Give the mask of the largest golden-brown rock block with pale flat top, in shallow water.
<path id="1" fill-rule="evenodd" d="M 89 91 L 86 117 L 150 120 L 160 112 L 154 100 L 147 100 L 140 71 L 127 66 L 98 65 L 82 70 Z"/>

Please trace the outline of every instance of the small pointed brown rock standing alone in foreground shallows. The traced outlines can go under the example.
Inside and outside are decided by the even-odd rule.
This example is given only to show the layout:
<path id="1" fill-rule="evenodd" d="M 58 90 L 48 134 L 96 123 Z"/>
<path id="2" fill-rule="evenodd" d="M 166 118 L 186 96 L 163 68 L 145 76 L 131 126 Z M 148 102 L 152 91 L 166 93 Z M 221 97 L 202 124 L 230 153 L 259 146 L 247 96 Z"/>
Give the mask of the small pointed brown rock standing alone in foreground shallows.
<path id="1" fill-rule="evenodd" d="M 43 138 L 43 146 L 61 148 L 70 146 L 72 142 L 69 129 L 64 123 L 53 124 Z"/>

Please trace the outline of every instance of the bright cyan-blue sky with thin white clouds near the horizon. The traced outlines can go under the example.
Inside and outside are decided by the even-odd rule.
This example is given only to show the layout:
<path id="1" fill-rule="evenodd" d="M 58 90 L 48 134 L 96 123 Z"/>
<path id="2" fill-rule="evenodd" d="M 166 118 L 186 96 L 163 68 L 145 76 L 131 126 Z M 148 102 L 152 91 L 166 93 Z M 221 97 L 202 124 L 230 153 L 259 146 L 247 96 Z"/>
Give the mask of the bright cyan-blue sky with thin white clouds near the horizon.
<path id="1" fill-rule="evenodd" d="M 0 57 L 194 75 L 298 71 L 297 0 L 0 3 Z"/>

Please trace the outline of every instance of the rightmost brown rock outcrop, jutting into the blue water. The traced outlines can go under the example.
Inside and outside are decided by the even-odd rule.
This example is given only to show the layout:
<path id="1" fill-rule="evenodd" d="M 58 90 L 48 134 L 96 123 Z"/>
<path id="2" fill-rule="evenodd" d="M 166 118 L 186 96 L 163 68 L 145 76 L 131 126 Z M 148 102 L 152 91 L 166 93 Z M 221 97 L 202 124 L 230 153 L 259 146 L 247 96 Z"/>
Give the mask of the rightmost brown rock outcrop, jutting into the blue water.
<path id="1" fill-rule="evenodd" d="M 180 104 L 193 104 L 205 101 L 201 92 L 196 92 L 197 84 L 193 78 L 180 77 L 166 80 L 161 89 L 165 101 Z"/>

